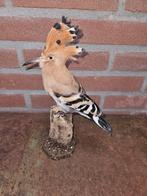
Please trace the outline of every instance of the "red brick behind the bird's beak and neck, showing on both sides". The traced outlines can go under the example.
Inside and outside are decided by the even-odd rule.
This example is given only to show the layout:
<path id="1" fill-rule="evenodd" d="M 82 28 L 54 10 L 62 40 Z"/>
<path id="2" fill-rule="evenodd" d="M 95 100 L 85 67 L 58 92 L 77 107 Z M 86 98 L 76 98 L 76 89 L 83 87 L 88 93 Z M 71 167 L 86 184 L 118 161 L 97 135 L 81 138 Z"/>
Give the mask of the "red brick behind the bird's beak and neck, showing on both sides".
<path id="1" fill-rule="evenodd" d="M 38 57 L 41 50 L 24 50 L 25 60 Z M 105 70 L 109 61 L 109 53 L 107 52 L 91 52 L 84 58 L 79 58 L 78 63 L 70 64 L 69 68 L 77 70 Z"/>

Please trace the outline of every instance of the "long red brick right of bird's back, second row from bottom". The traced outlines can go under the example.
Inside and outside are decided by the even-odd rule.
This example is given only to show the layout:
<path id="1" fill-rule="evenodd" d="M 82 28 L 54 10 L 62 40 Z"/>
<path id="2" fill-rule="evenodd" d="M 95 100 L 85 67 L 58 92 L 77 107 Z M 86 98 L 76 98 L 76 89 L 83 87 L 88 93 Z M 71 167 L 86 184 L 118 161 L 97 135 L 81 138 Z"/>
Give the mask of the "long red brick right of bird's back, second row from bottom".
<path id="1" fill-rule="evenodd" d="M 140 90 L 142 77 L 82 77 L 81 84 L 88 91 L 138 91 Z"/>

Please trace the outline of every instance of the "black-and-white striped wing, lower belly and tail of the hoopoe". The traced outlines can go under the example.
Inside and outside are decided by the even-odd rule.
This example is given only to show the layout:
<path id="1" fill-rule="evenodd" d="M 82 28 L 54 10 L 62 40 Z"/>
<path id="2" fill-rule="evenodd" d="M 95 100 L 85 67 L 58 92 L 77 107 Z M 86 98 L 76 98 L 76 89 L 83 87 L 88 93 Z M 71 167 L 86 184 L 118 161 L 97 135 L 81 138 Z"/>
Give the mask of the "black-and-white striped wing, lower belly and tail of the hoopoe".
<path id="1" fill-rule="evenodd" d="M 57 104 L 64 112 L 74 112 L 88 119 L 93 120 L 106 132 L 111 133 L 112 128 L 102 117 L 102 112 L 98 105 L 82 89 L 77 94 L 59 95 L 55 94 Z"/>

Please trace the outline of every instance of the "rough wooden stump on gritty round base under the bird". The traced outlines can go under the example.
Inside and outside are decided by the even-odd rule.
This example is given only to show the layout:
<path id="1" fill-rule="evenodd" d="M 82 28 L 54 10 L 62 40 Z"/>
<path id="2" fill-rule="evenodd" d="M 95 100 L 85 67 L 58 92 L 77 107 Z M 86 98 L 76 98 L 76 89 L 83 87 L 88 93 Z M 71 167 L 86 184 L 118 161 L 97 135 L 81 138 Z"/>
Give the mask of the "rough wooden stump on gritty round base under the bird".
<path id="1" fill-rule="evenodd" d="M 64 114 L 59 107 L 50 109 L 50 130 L 43 150 L 49 158 L 57 160 L 72 155 L 75 148 L 72 114 Z"/>

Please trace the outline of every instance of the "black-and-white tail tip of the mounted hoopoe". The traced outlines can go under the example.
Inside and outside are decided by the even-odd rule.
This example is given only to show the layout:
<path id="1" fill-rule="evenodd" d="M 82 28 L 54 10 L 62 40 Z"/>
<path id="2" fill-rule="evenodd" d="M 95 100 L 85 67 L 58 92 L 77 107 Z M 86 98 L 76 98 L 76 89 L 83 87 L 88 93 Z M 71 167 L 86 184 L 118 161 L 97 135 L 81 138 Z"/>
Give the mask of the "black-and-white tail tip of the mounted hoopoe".
<path id="1" fill-rule="evenodd" d="M 107 133 L 112 133 L 110 124 L 106 122 L 102 116 L 93 116 L 93 121 Z"/>

